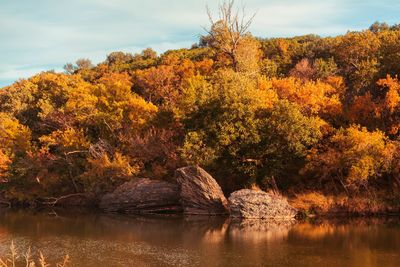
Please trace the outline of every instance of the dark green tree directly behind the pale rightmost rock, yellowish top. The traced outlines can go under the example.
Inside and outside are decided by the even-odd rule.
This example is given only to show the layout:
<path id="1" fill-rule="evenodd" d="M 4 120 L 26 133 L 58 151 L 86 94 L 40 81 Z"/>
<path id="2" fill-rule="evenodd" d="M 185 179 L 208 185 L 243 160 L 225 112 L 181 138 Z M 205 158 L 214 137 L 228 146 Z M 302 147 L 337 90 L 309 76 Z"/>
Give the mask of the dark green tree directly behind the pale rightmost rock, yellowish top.
<path id="1" fill-rule="evenodd" d="M 326 123 L 316 116 L 305 116 L 298 105 L 278 101 L 260 125 L 261 140 L 249 158 L 257 159 L 258 183 L 271 178 L 283 189 L 293 185 L 306 155 L 323 137 Z"/>

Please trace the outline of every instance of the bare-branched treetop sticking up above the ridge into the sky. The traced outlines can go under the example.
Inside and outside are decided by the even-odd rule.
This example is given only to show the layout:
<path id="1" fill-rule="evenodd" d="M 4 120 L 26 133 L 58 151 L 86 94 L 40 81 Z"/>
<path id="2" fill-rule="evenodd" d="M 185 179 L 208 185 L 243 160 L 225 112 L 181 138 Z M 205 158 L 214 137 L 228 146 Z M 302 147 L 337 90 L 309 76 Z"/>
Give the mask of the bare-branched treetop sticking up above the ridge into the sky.
<path id="1" fill-rule="evenodd" d="M 249 35 L 249 27 L 255 13 L 246 18 L 245 7 L 234 9 L 234 0 L 224 2 L 219 6 L 219 17 L 215 20 L 207 7 L 211 28 L 206 29 L 206 42 L 212 48 L 226 54 L 231 60 L 235 71 L 238 70 L 237 50 L 241 41 Z"/>

